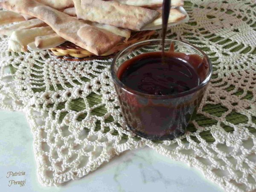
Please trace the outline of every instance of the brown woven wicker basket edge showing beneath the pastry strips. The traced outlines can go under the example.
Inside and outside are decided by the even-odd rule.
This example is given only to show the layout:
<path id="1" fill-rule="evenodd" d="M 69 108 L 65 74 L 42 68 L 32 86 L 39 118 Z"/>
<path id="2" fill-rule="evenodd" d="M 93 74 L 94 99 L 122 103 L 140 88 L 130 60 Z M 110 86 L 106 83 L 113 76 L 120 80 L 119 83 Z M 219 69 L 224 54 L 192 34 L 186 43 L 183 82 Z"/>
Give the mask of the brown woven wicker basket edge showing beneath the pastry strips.
<path id="1" fill-rule="evenodd" d="M 106 52 L 103 55 L 94 55 L 93 53 L 76 46 L 75 44 L 67 41 L 64 44 L 59 45 L 58 47 L 50 49 L 52 54 L 57 56 L 58 58 L 63 58 L 69 61 L 86 61 L 86 60 L 93 60 L 93 59 L 104 59 L 104 58 L 111 58 L 117 52 L 125 49 L 131 44 L 148 40 L 151 35 L 154 35 L 155 31 L 142 31 L 142 32 L 134 32 L 131 34 L 131 37 L 128 39 L 127 42 L 121 42 L 116 45 L 113 49 Z"/>

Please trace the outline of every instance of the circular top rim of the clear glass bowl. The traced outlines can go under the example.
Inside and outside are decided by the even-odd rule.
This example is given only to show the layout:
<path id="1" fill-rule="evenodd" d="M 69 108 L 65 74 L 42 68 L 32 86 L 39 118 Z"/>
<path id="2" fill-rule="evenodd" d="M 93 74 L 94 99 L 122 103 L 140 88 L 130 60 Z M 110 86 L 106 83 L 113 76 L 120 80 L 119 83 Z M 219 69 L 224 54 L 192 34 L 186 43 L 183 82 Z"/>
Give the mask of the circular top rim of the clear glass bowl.
<path id="1" fill-rule="evenodd" d="M 130 87 L 126 86 L 125 84 L 123 84 L 122 81 L 120 81 L 118 79 L 118 77 L 116 76 L 116 73 L 115 73 L 115 70 L 114 70 L 117 58 L 119 58 L 119 56 L 122 55 L 123 52 L 127 51 L 128 49 L 131 49 L 132 47 L 138 46 L 140 44 L 145 44 L 145 43 L 148 43 L 148 42 L 152 42 L 152 41 L 159 41 L 159 44 L 160 44 L 162 39 L 150 39 L 150 40 L 140 41 L 138 43 L 132 44 L 129 47 L 126 47 L 125 49 L 120 51 L 113 58 L 112 63 L 111 63 L 111 77 L 112 77 L 112 80 L 114 81 L 114 83 L 116 83 L 119 87 L 121 87 L 122 90 L 125 90 L 125 91 L 127 91 L 127 92 L 129 92 L 130 94 L 133 94 L 133 95 L 139 95 L 139 96 L 143 96 L 143 97 L 147 97 L 147 98 L 151 98 L 151 99 L 165 99 L 165 98 L 177 98 L 177 97 L 180 97 L 180 96 L 186 96 L 186 95 L 189 95 L 191 93 L 195 93 L 197 90 L 202 89 L 203 87 L 205 87 L 209 83 L 209 81 L 211 79 L 211 76 L 212 76 L 212 63 L 211 63 L 209 57 L 206 55 L 206 53 L 204 53 L 198 47 L 195 47 L 194 45 L 189 44 L 189 43 L 187 43 L 185 41 L 166 39 L 165 40 L 166 42 L 169 42 L 169 43 L 172 43 L 172 42 L 183 43 L 183 44 L 186 44 L 187 46 L 192 47 L 193 49 L 196 49 L 199 52 L 201 52 L 201 54 L 203 55 L 204 58 L 207 59 L 207 63 L 209 64 L 209 71 L 208 71 L 208 74 L 207 74 L 206 78 L 204 79 L 204 81 L 202 81 L 197 87 L 194 87 L 194 88 L 192 88 L 190 90 L 187 90 L 187 91 L 184 91 L 184 92 L 181 92 L 181 93 L 172 94 L 172 95 L 151 95 L 151 94 L 146 94 L 146 93 L 142 93 L 142 92 L 137 91 L 137 90 L 133 90 L 132 88 L 130 88 Z"/>

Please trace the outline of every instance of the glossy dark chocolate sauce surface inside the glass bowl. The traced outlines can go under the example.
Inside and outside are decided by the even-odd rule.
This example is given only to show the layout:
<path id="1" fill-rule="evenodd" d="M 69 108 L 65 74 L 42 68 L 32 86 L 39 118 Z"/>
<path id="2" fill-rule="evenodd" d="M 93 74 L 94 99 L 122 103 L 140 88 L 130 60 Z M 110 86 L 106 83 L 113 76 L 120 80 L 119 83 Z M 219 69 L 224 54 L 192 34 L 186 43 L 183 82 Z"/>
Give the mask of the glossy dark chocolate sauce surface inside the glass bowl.
<path id="1" fill-rule="evenodd" d="M 164 58 L 161 52 L 138 55 L 122 64 L 118 78 L 133 90 L 150 95 L 172 95 L 198 86 L 200 80 L 195 69 L 172 55 L 168 52 Z"/>

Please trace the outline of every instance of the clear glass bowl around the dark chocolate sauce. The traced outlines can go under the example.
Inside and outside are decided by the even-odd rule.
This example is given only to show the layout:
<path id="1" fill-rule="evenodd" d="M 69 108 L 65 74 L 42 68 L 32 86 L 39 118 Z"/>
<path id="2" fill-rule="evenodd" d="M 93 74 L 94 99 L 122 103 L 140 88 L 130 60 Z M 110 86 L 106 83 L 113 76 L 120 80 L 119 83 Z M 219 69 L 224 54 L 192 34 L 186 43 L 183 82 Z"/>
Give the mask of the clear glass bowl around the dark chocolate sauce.
<path id="1" fill-rule="evenodd" d="M 165 41 L 165 51 L 171 44 L 174 44 L 175 52 L 202 58 L 200 65 L 192 65 L 200 77 L 197 87 L 173 95 L 149 95 L 127 87 L 118 79 L 116 73 L 128 59 L 146 52 L 161 51 L 161 39 L 133 44 L 119 52 L 111 64 L 111 76 L 128 127 L 137 135 L 151 140 L 172 140 L 185 133 L 212 76 L 212 64 L 203 51 L 186 42 L 170 39 Z"/>

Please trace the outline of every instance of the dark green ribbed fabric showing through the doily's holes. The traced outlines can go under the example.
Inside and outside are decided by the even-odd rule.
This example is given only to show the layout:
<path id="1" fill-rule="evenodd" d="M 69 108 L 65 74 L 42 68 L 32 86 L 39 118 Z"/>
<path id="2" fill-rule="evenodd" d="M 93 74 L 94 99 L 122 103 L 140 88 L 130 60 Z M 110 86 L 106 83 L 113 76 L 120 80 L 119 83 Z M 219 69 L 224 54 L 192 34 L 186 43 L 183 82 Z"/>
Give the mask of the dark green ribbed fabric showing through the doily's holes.
<path id="1" fill-rule="evenodd" d="M 185 2 L 185 5 L 184 5 L 184 8 L 189 12 L 189 11 L 192 10 L 192 6 L 196 7 L 197 5 L 193 5 L 192 3 L 186 1 L 186 2 Z M 231 10 L 230 10 L 230 11 L 227 11 L 227 14 L 232 14 L 232 13 L 233 13 L 233 12 L 232 12 Z M 211 15 L 209 15 L 209 17 L 214 18 L 214 16 L 211 16 Z M 191 26 L 195 26 L 195 25 L 196 25 L 196 22 L 189 22 L 188 24 L 191 25 Z M 255 23 L 255 25 L 256 25 L 256 23 Z M 200 30 L 200 29 L 199 29 L 199 30 Z M 203 30 L 202 30 L 202 31 L 203 31 Z M 192 36 L 192 35 L 193 35 L 192 33 L 189 34 L 188 32 L 184 32 L 183 35 L 186 35 L 186 36 L 191 35 L 190 38 L 191 38 L 192 40 L 196 40 L 196 39 L 197 39 L 196 37 Z M 172 34 L 172 35 L 169 35 L 168 38 L 174 38 L 174 39 L 175 39 L 175 36 L 176 36 L 175 34 Z M 216 36 L 216 37 L 213 38 L 214 36 Z M 154 37 L 153 37 L 153 38 L 154 38 Z M 227 43 L 227 42 L 230 41 L 229 39 L 226 39 L 226 40 L 224 40 L 224 41 L 220 41 L 220 40 L 222 40 L 223 38 L 220 37 L 220 36 L 217 36 L 217 35 L 210 35 L 209 38 L 211 38 L 210 41 L 212 41 L 212 42 L 218 42 L 219 45 L 225 44 L 225 43 Z M 186 38 L 186 39 L 188 39 L 188 41 L 189 41 L 189 38 Z M 194 41 L 192 41 L 192 42 L 190 42 L 190 43 L 195 44 Z M 198 42 L 198 45 L 200 45 L 200 44 L 201 44 L 201 42 Z M 230 48 L 230 47 L 234 47 L 234 48 L 232 49 L 232 52 L 239 52 L 241 49 L 244 48 L 244 46 L 243 46 L 242 44 L 239 45 L 238 47 L 236 47 L 236 43 L 228 44 L 228 45 L 224 46 L 223 48 L 224 48 L 224 49 L 227 49 L 227 48 Z M 208 50 L 209 48 L 207 48 L 207 47 L 201 47 L 201 49 L 202 49 L 203 51 L 206 51 L 206 52 L 209 51 L 209 50 Z M 246 52 L 249 52 L 251 49 L 252 49 L 251 47 L 247 47 L 246 49 L 243 49 L 242 52 L 239 52 L 239 53 L 246 53 Z M 256 49 L 253 51 L 253 54 L 256 55 Z M 209 54 L 209 57 L 210 57 L 212 63 L 214 64 L 214 66 L 215 66 L 215 65 L 218 65 L 218 63 L 216 64 L 216 63 L 214 62 L 214 61 L 216 61 L 216 60 L 218 59 L 218 57 L 215 57 L 215 54 Z M 39 61 L 38 61 L 38 62 L 39 62 Z M 111 63 L 109 63 L 109 65 L 110 65 L 110 64 L 111 64 Z M 34 67 L 38 67 L 38 69 L 42 69 L 42 67 L 37 66 L 37 65 L 35 65 Z M 102 66 L 102 69 L 104 69 L 104 68 L 105 68 L 105 67 Z M 13 74 L 15 74 L 15 72 L 16 72 L 17 69 L 16 69 L 15 67 L 13 67 L 13 66 L 11 66 L 10 69 L 11 69 L 11 72 L 12 72 Z M 214 67 L 214 70 L 217 70 L 217 68 Z M 92 75 L 92 77 L 93 77 L 93 75 Z M 215 78 L 217 78 L 217 77 L 218 77 L 218 75 L 213 75 L 213 76 L 212 76 L 212 79 L 215 79 Z M 86 81 L 89 81 L 90 79 L 87 79 L 87 78 L 84 77 L 84 78 L 82 78 L 82 80 L 86 82 Z M 78 81 L 75 82 L 75 83 L 76 83 L 76 84 L 80 84 Z M 215 82 L 215 83 L 216 83 L 216 82 Z M 39 84 L 40 84 L 40 82 L 39 82 Z M 39 85 L 39 84 L 38 84 L 38 85 Z M 42 81 L 41 84 L 44 84 L 44 82 Z M 72 85 L 69 84 L 69 83 L 67 83 L 66 85 L 67 85 L 68 87 L 72 87 Z M 233 90 L 234 88 L 235 88 L 234 86 L 230 86 L 230 87 L 227 88 L 227 91 L 231 91 L 231 90 Z M 63 87 L 62 87 L 61 85 L 59 85 L 59 86 L 58 86 L 58 89 L 59 89 L 59 90 L 62 90 Z M 55 90 L 54 87 L 51 87 L 51 90 Z M 41 92 L 41 91 L 44 91 L 44 89 L 34 89 L 34 92 Z M 238 90 L 234 95 L 239 96 L 239 95 L 243 94 L 243 92 L 244 92 L 243 90 Z M 252 98 L 253 98 L 253 94 L 250 93 L 250 92 L 247 92 L 247 95 L 244 96 L 242 99 L 251 100 Z M 89 96 L 87 96 L 87 101 L 89 102 L 89 105 L 91 105 L 91 106 L 96 105 L 96 104 L 99 104 L 99 103 L 102 103 L 102 102 L 101 102 L 101 96 L 99 96 L 99 95 L 97 95 L 97 94 L 95 94 L 95 93 L 91 93 Z M 53 105 L 53 104 L 49 104 L 47 107 L 51 108 L 52 105 Z M 64 106 L 65 106 L 65 103 L 60 103 L 57 108 L 58 108 L 58 109 L 62 109 L 62 108 L 64 108 Z M 71 102 L 71 104 L 70 104 L 69 107 L 70 107 L 70 109 L 72 109 L 73 111 L 82 111 L 82 110 L 84 110 L 84 109 L 85 109 L 84 99 L 79 98 L 79 99 L 73 100 L 73 101 Z M 228 111 L 228 109 L 225 108 L 225 107 L 223 107 L 221 104 L 217 104 L 217 105 L 210 105 L 210 104 L 207 104 L 207 105 L 204 106 L 203 111 L 204 111 L 204 112 L 207 112 L 207 113 L 209 113 L 209 114 L 211 114 L 211 115 L 213 115 L 213 116 L 220 117 L 224 112 Z M 96 115 L 96 116 L 103 116 L 103 115 L 105 115 L 105 113 L 107 113 L 107 110 L 106 110 L 106 108 L 105 108 L 104 106 L 102 106 L 102 107 L 99 107 L 99 108 L 94 109 L 94 110 L 92 111 L 92 113 L 93 113 L 93 115 Z M 66 114 L 67 114 L 67 112 L 66 112 L 66 113 L 61 113 L 60 119 L 63 119 Z M 78 119 L 78 120 L 81 121 L 82 119 L 85 118 L 85 116 L 86 116 L 86 114 L 83 114 L 83 115 L 79 116 L 79 119 Z M 206 116 L 204 116 L 204 115 L 202 115 L 202 114 L 197 114 L 197 115 L 194 117 L 193 120 L 195 120 L 195 121 L 198 123 L 198 125 L 200 125 L 200 126 L 202 126 L 202 127 L 209 127 L 209 126 L 212 126 L 212 125 L 216 125 L 216 124 L 217 124 L 217 121 L 216 121 L 215 119 L 210 119 L 210 118 L 208 118 L 208 117 L 206 117 Z M 234 124 L 234 125 L 237 125 L 237 124 L 239 124 L 239 123 L 247 123 L 247 122 L 248 122 L 247 116 L 244 116 L 244 115 L 242 115 L 242 114 L 240 114 L 240 113 L 237 113 L 236 111 L 232 111 L 230 114 L 228 114 L 228 115 L 226 116 L 226 120 L 227 120 L 228 122 Z M 106 122 L 113 122 L 113 117 L 111 116 L 111 117 L 109 117 L 108 119 L 106 119 L 105 121 L 106 121 Z M 253 121 L 254 123 L 256 123 L 256 117 L 255 117 L 255 116 L 253 116 L 252 121 Z M 120 126 L 120 125 L 117 125 L 117 126 Z M 221 126 L 222 126 L 222 128 L 224 128 L 224 130 L 227 131 L 227 132 L 233 132 L 233 131 L 234 131 L 234 129 L 233 129 L 232 127 L 230 127 L 230 126 L 227 126 L 227 125 L 224 125 L 224 124 L 221 124 Z M 95 129 L 95 131 L 99 131 L 99 130 L 100 130 L 100 127 L 101 127 L 100 122 L 99 122 L 99 121 L 96 122 L 96 129 Z M 86 129 L 87 129 L 88 131 L 90 131 L 90 128 L 86 128 Z M 249 131 L 250 131 L 251 133 L 256 132 L 256 129 L 255 129 L 255 128 L 249 127 L 248 129 L 249 129 Z M 108 131 L 110 131 L 110 129 L 109 129 L 109 128 L 105 128 L 105 132 L 108 132 Z M 190 123 L 189 126 L 187 127 L 187 131 L 195 132 L 195 131 L 196 131 L 196 128 L 195 128 L 195 126 L 194 126 L 192 123 Z M 113 134 L 113 135 L 117 135 L 118 132 L 117 132 L 117 131 L 113 131 L 112 134 Z M 212 134 L 210 133 L 210 131 L 203 131 L 203 132 L 201 132 L 200 136 L 201 136 L 204 140 L 206 140 L 207 142 L 214 142 L 214 141 L 215 141 L 215 139 L 212 137 Z M 191 136 L 191 138 L 192 138 L 192 140 L 194 140 L 195 142 L 199 142 L 196 137 Z M 128 137 L 127 137 L 127 136 L 123 136 L 123 139 L 126 140 L 126 139 L 128 139 Z M 137 140 L 140 140 L 140 137 L 136 137 L 136 139 L 137 139 Z M 154 141 L 154 142 L 156 142 L 156 143 L 161 143 L 162 141 Z M 187 142 L 186 138 L 183 139 L 183 142 Z"/>

